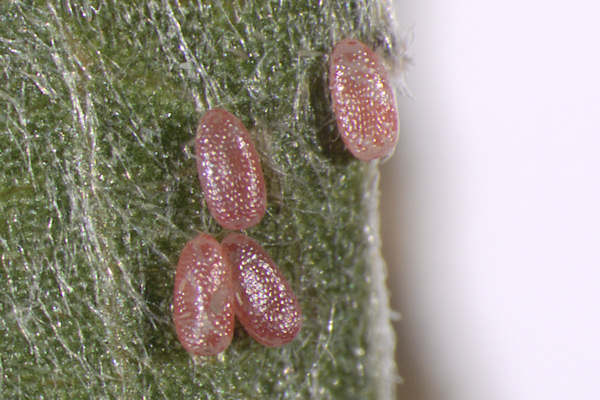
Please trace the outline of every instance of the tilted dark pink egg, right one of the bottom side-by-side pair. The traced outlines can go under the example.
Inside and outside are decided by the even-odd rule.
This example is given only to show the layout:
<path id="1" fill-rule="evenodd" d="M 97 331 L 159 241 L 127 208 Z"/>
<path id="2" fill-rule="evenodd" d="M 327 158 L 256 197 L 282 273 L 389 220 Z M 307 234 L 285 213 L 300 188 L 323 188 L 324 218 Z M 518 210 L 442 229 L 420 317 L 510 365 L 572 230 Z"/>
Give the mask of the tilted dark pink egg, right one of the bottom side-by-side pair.
<path id="1" fill-rule="evenodd" d="M 230 233 L 221 245 L 231 261 L 235 315 L 246 332 L 269 347 L 290 342 L 302 326 L 302 311 L 275 262 L 239 233 Z"/>

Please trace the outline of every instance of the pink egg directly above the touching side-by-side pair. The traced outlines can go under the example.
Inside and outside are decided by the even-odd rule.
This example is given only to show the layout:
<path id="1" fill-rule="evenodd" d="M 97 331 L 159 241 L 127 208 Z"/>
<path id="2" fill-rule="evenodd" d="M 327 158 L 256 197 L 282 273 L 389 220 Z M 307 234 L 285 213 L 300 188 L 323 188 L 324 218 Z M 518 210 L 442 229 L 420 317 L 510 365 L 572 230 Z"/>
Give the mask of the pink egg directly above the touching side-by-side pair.
<path id="1" fill-rule="evenodd" d="M 260 159 L 250 134 L 231 113 L 210 110 L 196 133 L 198 176 L 208 209 L 226 229 L 260 222 L 267 197 Z"/>

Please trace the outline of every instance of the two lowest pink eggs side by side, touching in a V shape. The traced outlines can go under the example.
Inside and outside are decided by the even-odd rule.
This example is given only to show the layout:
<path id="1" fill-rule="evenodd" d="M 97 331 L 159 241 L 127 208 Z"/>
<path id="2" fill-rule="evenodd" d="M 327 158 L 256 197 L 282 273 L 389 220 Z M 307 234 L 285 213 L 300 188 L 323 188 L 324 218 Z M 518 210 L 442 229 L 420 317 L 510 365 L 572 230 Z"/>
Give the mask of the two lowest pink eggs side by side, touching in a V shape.
<path id="1" fill-rule="evenodd" d="M 219 244 L 201 233 L 184 247 L 175 274 L 179 341 L 193 355 L 216 355 L 231 343 L 234 316 L 269 347 L 288 343 L 302 326 L 294 292 L 255 240 L 234 232 Z"/>

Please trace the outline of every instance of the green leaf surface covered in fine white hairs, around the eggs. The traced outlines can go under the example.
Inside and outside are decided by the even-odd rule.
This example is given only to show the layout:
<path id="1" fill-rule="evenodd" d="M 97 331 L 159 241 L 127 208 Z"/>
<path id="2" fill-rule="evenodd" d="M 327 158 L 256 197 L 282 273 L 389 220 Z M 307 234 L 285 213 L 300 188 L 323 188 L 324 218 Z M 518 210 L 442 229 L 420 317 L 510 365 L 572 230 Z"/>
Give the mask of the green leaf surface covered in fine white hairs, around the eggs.
<path id="1" fill-rule="evenodd" d="M 393 394 L 377 165 L 337 137 L 327 55 L 393 51 L 377 1 L 0 2 L 0 397 L 369 399 Z M 221 239 L 198 182 L 200 116 L 251 130 L 268 189 L 247 231 L 304 313 L 265 348 L 237 326 L 194 360 L 175 265 Z"/>

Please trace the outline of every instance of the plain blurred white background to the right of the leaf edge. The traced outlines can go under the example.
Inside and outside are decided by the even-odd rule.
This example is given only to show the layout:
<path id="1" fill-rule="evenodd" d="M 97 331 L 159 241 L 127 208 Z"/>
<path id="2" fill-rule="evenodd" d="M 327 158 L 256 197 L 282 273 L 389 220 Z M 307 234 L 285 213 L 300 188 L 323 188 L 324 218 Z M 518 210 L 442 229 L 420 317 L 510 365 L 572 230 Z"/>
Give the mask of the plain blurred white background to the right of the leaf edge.
<path id="1" fill-rule="evenodd" d="M 600 3 L 397 1 L 383 167 L 410 400 L 600 399 Z"/>

